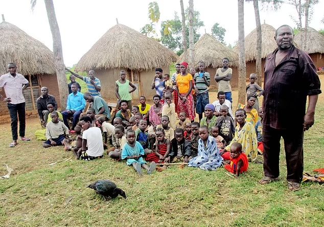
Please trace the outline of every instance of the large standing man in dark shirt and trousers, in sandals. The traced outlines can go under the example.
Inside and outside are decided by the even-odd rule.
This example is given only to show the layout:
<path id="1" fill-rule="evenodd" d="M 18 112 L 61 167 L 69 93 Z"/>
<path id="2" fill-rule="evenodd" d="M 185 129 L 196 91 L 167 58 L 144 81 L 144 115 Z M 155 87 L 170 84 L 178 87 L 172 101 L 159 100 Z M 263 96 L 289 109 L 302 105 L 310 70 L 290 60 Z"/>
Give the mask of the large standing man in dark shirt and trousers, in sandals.
<path id="1" fill-rule="evenodd" d="M 303 178 L 304 131 L 314 124 L 315 106 L 321 93 L 311 58 L 292 43 L 293 30 L 279 27 L 274 37 L 278 48 L 265 62 L 263 101 L 264 178 L 261 184 L 279 179 L 280 139 L 283 137 L 288 188 L 300 189 Z M 308 96 L 308 109 L 306 99 Z M 305 114 L 306 111 L 306 114 Z"/>

